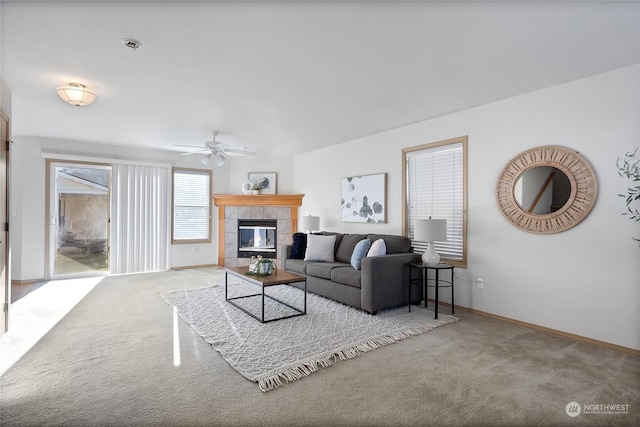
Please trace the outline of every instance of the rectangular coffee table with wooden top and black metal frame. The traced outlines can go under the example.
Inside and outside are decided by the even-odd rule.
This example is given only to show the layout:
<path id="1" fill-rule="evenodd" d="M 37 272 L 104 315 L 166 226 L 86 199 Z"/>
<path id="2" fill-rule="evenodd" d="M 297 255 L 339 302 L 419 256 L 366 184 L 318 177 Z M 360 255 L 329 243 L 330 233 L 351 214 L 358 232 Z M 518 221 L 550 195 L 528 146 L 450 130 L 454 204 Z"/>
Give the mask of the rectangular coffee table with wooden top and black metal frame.
<path id="1" fill-rule="evenodd" d="M 302 316 L 303 314 L 307 313 L 307 278 L 305 276 L 301 276 L 299 274 L 290 273 L 288 271 L 283 271 L 283 270 L 275 270 L 273 273 L 267 276 L 256 276 L 256 275 L 251 275 L 247 273 L 249 273 L 249 267 L 226 267 L 224 269 L 224 299 L 229 304 L 232 304 L 233 306 L 239 308 L 240 310 L 244 311 L 249 316 L 260 321 L 261 323 L 273 322 L 274 320 L 288 319 L 290 317 L 295 317 L 295 316 Z M 261 292 L 258 294 L 242 295 L 238 297 L 229 298 L 229 294 L 228 294 L 229 275 L 240 278 L 245 282 L 248 282 L 260 287 Z M 265 288 L 269 286 L 291 285 L 292 283 L 299 283 L 299 282 L 304 282 L 304 308 L 302 310 L 278 298 L 275 298 L 274 296 L 266 295 L 264 292 Z M 249 310 L 235 303 L 235 300 L 242 299 L 242 298 L 251 298 L 251 297 L 262 297 L 261 316 L 251 313 Z M 282 304 L 291 308 L 292 310 L 296 311 L 296 314 L 291 314 L 288 316 L 276 317 L 274 319 L 265 320 L 264 319 L 265 298 L 269 298 L 273 301 L 278 302 L 279 304 Z"/>

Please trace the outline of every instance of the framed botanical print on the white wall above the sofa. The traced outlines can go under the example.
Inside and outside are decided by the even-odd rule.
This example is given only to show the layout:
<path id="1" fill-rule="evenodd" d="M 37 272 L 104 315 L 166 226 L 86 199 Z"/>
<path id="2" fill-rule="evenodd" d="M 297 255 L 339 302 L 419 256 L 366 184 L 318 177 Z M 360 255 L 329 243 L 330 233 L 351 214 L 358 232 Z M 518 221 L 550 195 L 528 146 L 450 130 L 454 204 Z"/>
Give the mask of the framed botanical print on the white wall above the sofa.
<path id="1" fill-rule="evenodd" d="M 343 222 L 386 222 L 387 174 L 342 178 Z"/>

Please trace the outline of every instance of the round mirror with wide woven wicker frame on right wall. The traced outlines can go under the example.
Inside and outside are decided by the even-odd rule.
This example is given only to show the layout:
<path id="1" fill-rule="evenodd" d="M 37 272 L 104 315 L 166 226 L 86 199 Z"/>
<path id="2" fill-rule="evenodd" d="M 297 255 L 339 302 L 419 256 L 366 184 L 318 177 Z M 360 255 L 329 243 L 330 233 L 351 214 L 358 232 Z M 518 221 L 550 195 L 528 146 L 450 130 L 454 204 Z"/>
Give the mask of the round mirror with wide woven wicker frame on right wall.
<path id="1" fill-rule="evenodd" d="M 504 217 L 524 231 L 539 234 L 559 233 L 578 224 L 591 211 L 596 193 L 596 176 L 589 162 L 555 145 L 518 154 L 504 167 L 496 184 Z"/>

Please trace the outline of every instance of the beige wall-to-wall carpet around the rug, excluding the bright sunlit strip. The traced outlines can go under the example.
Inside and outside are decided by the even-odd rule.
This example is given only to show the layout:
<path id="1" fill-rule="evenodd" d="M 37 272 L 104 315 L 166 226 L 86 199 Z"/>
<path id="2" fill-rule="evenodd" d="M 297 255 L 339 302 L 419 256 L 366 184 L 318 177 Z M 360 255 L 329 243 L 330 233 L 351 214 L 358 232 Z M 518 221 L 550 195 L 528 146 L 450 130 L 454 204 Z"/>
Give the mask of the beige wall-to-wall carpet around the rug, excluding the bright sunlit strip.
<path id="1" fill-rule="evenodd" d="M 219 268 L 104 278 L 0 376 L 0 426 L 640 425 L 640 357 L 463 310 L 263 393 L 158 295 L 222 282 Z"/>

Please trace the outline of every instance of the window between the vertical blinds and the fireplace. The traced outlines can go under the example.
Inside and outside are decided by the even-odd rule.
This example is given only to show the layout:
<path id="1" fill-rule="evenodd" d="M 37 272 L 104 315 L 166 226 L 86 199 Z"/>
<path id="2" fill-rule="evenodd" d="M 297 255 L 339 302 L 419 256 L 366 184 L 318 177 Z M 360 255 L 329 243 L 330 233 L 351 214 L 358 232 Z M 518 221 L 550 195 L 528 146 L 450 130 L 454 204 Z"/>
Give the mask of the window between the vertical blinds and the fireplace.
<path id="1" fill-rule="evenodd" d="M 171 242 L 211 242 L 211 171 L 173 170 Z"/>

